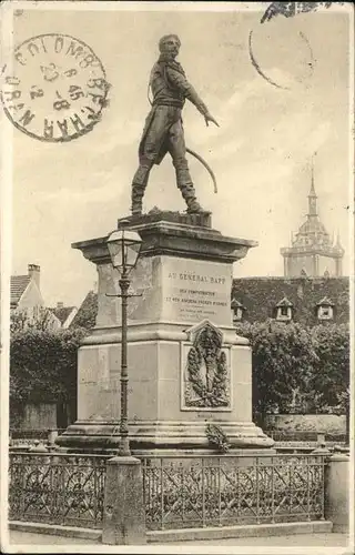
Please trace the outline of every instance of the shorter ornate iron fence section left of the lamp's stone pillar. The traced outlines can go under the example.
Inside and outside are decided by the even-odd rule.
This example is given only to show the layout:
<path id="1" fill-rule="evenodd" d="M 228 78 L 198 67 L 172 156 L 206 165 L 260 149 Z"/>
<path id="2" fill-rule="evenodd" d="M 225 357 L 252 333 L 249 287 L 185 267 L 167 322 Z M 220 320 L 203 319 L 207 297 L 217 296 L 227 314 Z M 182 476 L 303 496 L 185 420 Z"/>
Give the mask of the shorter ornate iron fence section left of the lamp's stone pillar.
<path id="1" fill-rule="evenodd" d="M 106 458 L 11 453 L 9 519 L 101 528 Z"/>

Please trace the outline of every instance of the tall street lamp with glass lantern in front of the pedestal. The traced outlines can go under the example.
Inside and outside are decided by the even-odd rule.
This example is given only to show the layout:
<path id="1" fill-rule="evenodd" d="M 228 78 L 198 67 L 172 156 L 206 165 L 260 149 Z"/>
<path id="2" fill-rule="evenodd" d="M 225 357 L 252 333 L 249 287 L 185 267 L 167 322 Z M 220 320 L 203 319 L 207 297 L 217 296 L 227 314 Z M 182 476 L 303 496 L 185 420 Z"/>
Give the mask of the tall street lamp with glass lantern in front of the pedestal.
<path id="1" fill-rule="evenodd" d="M 124 223 L 124 222 L 122 222 Z M 129 441 L 129 426 L 128 426 L 128 341 L 126 341 L 126 307 L 129 296 L 136 296 L 129 294 L 130 287 L 130 272 L 136 264 L 142 246 L 140 235 L 130 230 L 116 230 L 111 233 L 108 241 L 108 249 L 111 256 L 111 263 L 120 272 L 119 285 L 121 294 L 108 296 L 121 297 L 121 421 L 120 421 L 120 447 L 119 454 L 121 456 L 130 456 L 130 441 Z"/>

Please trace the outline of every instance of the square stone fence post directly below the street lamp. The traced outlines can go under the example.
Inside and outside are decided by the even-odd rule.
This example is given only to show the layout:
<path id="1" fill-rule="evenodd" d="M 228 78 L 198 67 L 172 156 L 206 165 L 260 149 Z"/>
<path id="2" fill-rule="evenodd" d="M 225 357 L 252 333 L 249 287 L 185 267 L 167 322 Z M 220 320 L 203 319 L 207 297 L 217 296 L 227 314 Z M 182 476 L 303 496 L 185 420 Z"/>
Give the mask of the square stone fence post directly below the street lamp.
<path id="1" fill-rule="evenodd" d="M 146 543 L 143 473 L 139 458 L 114 456 L 106 462 L 102 543 Z"/>

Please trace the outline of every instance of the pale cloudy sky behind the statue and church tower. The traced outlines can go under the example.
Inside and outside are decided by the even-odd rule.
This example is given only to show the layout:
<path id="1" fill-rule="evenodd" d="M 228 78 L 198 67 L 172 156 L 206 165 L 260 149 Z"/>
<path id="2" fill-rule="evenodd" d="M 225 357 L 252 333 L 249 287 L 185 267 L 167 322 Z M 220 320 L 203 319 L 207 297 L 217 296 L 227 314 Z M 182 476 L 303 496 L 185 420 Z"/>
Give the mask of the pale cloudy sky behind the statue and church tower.
<path id="1" fill-rule="evenodd" d="M 109 3 L 109 2 L 108 2 Z M 235 276 L 283 275 L 290 245 L 307 213 L 314 157 L 318 212 L 339 232 L 348 273 L 351 245 L 349 29 L 347 9 L 277 17 L 260 23 L 255 3 L 178 2 L 104 9 L 97 2 L 39 2 L 13 16 L 13 44 L 42 33 L 70 34 L 100 58 L 111 84 L 109 105 L 93 130 L 67 143 L 38 141 L 4 118 L 12 163 L 11 273 L 41 266 L 48 306 L 79 305 L 97 280 L 95 266 L 71 244 L 106 235 L 129 215 L 138 147 L 149 112 L 146 85 L 161 36 L 181 38 L 179 61 L 220 127 L 197 110 L 183 113 L 186 144 L 212 167 L 219 185 L 190 160 L 197 198 L 225 235 L 258 242 L 234 265 Z M 176 8 L 178 7 L 178 8 Z M 51 8 L 51 9 L 49 9 Z M 243 10 L 242 10 L 243 8 Z M 263 79 L 251 62 L 253 53 Z M 170 158 L 151 173 L 144 211 L 185 210 Z"/>

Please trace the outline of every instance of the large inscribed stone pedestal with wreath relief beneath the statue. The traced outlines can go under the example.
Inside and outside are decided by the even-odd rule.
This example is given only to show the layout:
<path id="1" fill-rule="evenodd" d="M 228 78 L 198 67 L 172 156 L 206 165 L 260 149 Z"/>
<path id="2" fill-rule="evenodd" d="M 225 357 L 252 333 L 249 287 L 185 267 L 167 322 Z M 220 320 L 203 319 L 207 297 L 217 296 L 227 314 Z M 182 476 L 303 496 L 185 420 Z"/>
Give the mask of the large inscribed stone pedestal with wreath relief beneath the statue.
<path id="1" fill-rule="evenodd" d="M 206 448 L 206 423 L 233 447 L 268 447 L 252 422 L 248 343 L 232 323 L 233 263 L 256 243 L 223 236 L 210 214 L 156 212 L 118 222 L 142 238 L 129 300 L 129 428 L 133 450 Z M 119 444 L 121 299 L 106 236 L 73 244 L 99 274 L 95 327 L 79 350 L 78 421 L 57 443 Z"/>

